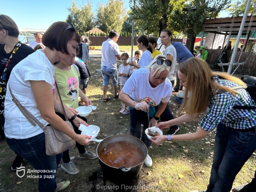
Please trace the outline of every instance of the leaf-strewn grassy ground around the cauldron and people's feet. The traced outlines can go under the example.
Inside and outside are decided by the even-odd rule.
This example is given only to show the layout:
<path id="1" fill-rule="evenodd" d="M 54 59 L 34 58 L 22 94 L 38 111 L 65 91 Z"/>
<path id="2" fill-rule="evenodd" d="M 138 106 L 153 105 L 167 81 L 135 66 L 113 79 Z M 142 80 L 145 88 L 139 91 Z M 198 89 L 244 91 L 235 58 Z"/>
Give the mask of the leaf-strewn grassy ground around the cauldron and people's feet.
<path id="1" fill-rule="evenodd" d="M 92 76 L 86 89 L 86 95 L 90 97 L 93 105 L 98 105 L 97 109 L 87 116 L 88 124 L 94 124 L 100 127 L 98 139 L 105 138 L 104 135 L 115 134 L 116 131 L 129 134 L 130 119 L 129 115 L 123 116 L 119 113 L 121 102 L 117 99 L 111 99 L 107 103 L 102 102 L 102 77 L 100 74 L 95 73 L 96 69 L 100 69 L 100 59 L 91 59 L 91 64 L 88 65 L 88 68 Z M 118 90 L 120 91 L 120 88 Z M 113 98 L 113 88 L 111 86 L 108 89 L 108 96 Z M 177 103 L 170 103 L 170 109 L 174 116 L 176 116 L 179 107 L 180 105 Z M 195 132 L 202 117 L 203 115 L 195 121 L 180 124 L 180 131 L 177 134 Z M 164 130 L 164 133 L 166 131 Z M 140 185 L 161 186 L 161 190 L 143 189 L 140 192 L 189 192 L 190 190 L 205 190 L 210 178 L 214 137 L 215 132 L 213 131 L 212 134 L 206 137 L 207 140 L 164 142 L 162 146 L 152 144 L 152 148 L 149 149 L 149 155 L 153 160 L 153 166 L 146 167 L 143 165 L 140 172 Z M 98 143 L 92 142 L 89 150 L 96 153 L 97 145 Z M 188 150 L 187 153 L 184 150 Z M 58 168 L 56 182 L 65 180 L 71 182 L 70 186 L 64 189 L 63 192 L 100 191 L 95 190 L 97 184 L 103 185 L 100 179 L 90 179 L 100 169 L 98 159 L 80 160 L 77 158 L 78 151 L 76 148 L 71 148 L 69 155 L 75 157 L 72 161 L 77 165 L 80 172 L 77 175 L 68 175 L 60 167 Z M 16 172 L 11 171 L 14 158 L 15 154 L 7 143 L 4 140 L 1 141 L 0 191 L 36 192 L 37 179 L 19 178 Z M 255 156 L 252 156 L 246 162 L 242 170 L 237 174 L 233 186 L 246 184 L 251 181 L 256 169 L 255 161 Z M 33 169 L 26 161 L 24 161 L 24 166 L 26 169 Z M 178 174 L 182 174 L 184 177 L 179 179 Z M 22 183 L 17 184 L 19 181 L 22 181 Z"/>

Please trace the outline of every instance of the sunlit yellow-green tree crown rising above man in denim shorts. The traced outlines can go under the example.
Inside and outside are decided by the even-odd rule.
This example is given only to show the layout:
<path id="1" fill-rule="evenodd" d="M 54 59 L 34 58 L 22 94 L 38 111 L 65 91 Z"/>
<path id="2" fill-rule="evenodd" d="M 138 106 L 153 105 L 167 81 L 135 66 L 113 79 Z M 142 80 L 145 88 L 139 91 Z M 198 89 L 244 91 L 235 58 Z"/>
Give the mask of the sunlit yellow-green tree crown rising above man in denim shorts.
<path id="1" fill-rule="evenodd" d="M 99 3 L 96 15 L 96 25 L 102 31 L 115 29 L 118 33 L 127 18 L 124 0 L 108 0 L 107 4 Z"/>

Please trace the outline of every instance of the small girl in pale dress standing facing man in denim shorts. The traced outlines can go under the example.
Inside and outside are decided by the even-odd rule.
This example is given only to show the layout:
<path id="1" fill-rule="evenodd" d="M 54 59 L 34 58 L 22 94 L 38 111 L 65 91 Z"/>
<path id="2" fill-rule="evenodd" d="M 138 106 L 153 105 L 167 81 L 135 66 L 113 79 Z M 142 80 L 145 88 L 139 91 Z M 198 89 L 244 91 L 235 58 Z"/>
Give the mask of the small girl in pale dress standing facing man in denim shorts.
<path id="1" fill-rule="evenodd" d="M 129 65 L 126 62 L 128 58 L 129 58 L 128 53 L 122 53 L 121 60 L 123 64 L 119 66 L 119 70 L 118 70 L 118 76 L 120 77 L 119 83 L 120 83 L 121 90 L 123 89 L 125 82 L 133 73 L 133 69 L 130 69 Z M 123 115 L 128 115 L 130 113 L 129 106 L 127 106 L 127 109 L 125 110 L 124 103 L 122 102 L 122 108 L 119 111 L 119 113 L 122 113 Z"/>

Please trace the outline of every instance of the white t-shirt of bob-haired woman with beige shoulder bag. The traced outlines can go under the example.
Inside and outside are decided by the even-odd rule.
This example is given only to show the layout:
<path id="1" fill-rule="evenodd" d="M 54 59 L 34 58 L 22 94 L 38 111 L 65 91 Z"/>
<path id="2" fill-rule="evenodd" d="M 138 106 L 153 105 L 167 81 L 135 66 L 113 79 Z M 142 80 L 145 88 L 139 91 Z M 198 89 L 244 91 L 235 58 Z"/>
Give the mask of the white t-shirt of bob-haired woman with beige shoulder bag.
<path id="1" fill-rule="evenodd" d="M 41 50 L 37 50 L 12 69 L 8 81 L 14 97 L 44 125 L 48 123 L 40 115 L 29 80 L 45 81 L 51 84 L 54 94 L 54 69 L 55 67 L 45 54 Z M 8 84 L 4 102 L 5 136 L 10 139 L 26 139 L 44 132 L 37 124 L 35 127 L 30 124 L 26 117 L 22 115 L 19 108 L 12 101 Z"/>

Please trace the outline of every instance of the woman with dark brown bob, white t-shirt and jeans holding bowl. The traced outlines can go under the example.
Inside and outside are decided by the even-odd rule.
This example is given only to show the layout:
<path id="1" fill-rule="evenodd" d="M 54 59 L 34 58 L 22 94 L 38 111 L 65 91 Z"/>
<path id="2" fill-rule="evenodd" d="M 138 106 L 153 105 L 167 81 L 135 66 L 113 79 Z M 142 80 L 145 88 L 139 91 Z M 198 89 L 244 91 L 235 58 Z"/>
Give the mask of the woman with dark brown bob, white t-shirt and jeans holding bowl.
<path id="1" fill-rule="evenodd" d="M 69 61 L 76 55 L 76 47 L 80 37 L 73 25 L 66 22 L 53 23 L 44 33 L 44 49 L 39 49 L 20 61 L 12 70 L 7 85 L 5 98 L 5 137 L 9 147 L 25 158 L 35 170 L 40 170 L 39 192 L 60 191 L 69 185 L 69 181 L 56 184 L 55 177 L 62 153 L 47 156 L 45 152 L 44 131 L 36 124 L 28 122 L 19 108 L 12 101 L 10 89 L 14 97 L 45 126 L 51 124 L 81 145 L 88 145 L 91 137 L 76 134 L 55 110 L 64 114 L 60 99 L 55 90 L 54 65 L 58 60 Z M 18 50 L 19 51 L 19 50 Z M 77 127 L 88 126 L 63 103 L 68 119 Z"/>

